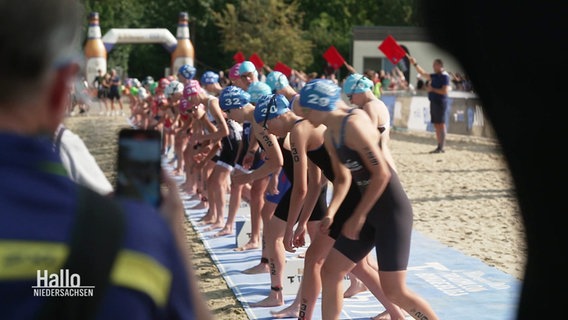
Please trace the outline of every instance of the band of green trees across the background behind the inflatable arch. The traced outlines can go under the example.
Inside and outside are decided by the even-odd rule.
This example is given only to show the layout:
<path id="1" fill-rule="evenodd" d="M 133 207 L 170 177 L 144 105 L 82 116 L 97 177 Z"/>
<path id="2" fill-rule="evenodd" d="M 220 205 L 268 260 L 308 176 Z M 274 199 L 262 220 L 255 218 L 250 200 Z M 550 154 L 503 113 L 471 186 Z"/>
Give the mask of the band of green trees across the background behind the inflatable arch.
<path id="1" fill-rule="evenodd" d="M 350 60 L 353 26 L 416 26 L 419 0 L 80 0 L 97 11 L 103 35 L 111 28 L 167 28 L 176 34 L 180 12 L 189 14 L 198 72 L 224 70 L 232 56 L 256 52 L 269 66 L 281 61 L 321 73 L 330 45 Z M 85 16 L 84 34 L 87 32 Z M 160 45 L 117 45 L 109 68 L 130 77 L 161 77 L 170 55 Z"/>

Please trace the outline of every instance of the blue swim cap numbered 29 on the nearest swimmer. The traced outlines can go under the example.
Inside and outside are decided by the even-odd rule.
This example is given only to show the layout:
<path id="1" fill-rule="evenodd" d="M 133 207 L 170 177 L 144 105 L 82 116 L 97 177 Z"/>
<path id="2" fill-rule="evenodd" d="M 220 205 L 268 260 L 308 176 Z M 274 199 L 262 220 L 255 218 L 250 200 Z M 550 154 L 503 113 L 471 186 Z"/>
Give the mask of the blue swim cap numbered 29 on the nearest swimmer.
<path id="1" fill-rule="evenodd" d="M 332 111 L 335 110 L 335 103 L 340 95 L 341 88 L 335 82 L 328 79 L 313 79 L 300 90 L 300 105 L 319 111 Z"/>

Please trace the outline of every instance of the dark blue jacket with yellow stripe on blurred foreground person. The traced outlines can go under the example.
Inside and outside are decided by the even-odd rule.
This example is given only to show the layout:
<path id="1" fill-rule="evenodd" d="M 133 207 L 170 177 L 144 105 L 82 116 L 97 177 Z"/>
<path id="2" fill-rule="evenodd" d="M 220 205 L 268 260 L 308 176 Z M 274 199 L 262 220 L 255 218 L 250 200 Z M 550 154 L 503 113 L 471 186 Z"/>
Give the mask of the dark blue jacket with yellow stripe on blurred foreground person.
<path id="1" fill-rule="evenodd" d="M 58 274 L 65 263 L 78 187 L 49 137 L 0 133 L 0 146 L 0 318 L 31 319 L 47 300 L 34 296 L 38 271 Z M 184 260 L 166 221 L 145 204 L 121 205 L 124 243 L 97 319 L 195 319 Z"/>

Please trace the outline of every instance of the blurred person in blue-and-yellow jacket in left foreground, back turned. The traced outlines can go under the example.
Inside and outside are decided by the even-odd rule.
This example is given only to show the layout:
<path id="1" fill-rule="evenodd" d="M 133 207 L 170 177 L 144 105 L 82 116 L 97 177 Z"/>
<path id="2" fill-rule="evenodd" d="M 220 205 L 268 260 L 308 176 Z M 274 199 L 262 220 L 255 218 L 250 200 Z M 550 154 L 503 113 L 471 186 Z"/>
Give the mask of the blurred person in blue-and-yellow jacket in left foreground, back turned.
<path id="1" fill-rule="evenodd" d="M 184 242 L 183 206 L 175 183 L 163 175 L 160 211 L 104 197 L 73 182 L 53 150 L 52 136 L 79 71 L 74 58 L 80 56 L 82 17 L 74 0 L 22 0 L 17 5 L 0 0 L 0 83 L 11 88 L 0 93 L 0 318 L 211 319 Z M 80 195 L 104 209 L 80 210 Z M 105 237 L 88 239 L 100 244 L 109 226 L 121 231 L 120 241 L 111 244 L 118 249 L 105 269 L 107 278 L 90 278 L 103 285 L 90 296 L 34 296 L 40 272 L 49 272 L 51 283 L 53 275 L 74 265 L 69 256 L 77 253 L 76 243 L 70 239 L 76 239 L 76 224 L 84 221 L 80 218 L 108 217 L 101 211 L 110 207 L 116 214 L 95 230 Z M 82 267 L 89 275 L 95 268 Z M 80 285 L 93 285 L 87 279 L 81 278 Z M 57 286 L 69 290 L 64 283 Z"/>

